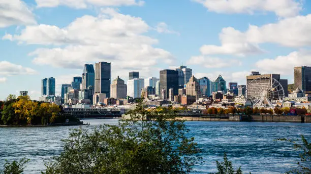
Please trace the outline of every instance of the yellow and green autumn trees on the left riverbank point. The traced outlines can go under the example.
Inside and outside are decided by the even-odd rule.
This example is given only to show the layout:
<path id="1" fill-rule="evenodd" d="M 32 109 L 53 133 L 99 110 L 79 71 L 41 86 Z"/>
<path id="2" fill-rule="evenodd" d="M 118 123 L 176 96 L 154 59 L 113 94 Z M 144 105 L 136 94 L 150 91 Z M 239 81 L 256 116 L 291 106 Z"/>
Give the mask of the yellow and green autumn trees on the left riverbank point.
<path id="1" fill-rule="evenodd" d="M 61 108 L 55 104 L 30 100 L 29 96 L 9 95 L 0 103 L 0 124 L 46 125 L 59 121 Z"/>

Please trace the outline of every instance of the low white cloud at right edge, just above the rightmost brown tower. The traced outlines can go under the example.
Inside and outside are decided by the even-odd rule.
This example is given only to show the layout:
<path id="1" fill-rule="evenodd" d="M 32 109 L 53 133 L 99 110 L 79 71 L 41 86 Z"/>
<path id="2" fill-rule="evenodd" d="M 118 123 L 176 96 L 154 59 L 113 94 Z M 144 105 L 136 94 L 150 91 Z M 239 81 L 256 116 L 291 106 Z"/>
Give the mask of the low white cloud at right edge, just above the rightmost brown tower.
<path id="1" fill-rule="evenodd" d="M 274 59 L 263 59 L 256 63 L 256 66 L 265 72 L 292 75 L 294 67 L 311 65 L 310 51 L 295 51 L 287 56 L 278 56 Z"/>

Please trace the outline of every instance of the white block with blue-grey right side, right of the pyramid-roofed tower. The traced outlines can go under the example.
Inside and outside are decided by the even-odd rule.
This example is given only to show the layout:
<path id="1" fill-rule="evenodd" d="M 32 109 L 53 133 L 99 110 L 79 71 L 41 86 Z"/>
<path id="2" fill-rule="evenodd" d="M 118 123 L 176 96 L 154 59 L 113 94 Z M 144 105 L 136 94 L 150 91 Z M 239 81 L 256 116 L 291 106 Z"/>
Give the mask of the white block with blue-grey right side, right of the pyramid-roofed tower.
<path id="1" fill-rule="evenodd" d="M 128 96 L 135 98 L 141 97 L 141 89 L 144 88 L 143 78 L 128 80 Z"/>

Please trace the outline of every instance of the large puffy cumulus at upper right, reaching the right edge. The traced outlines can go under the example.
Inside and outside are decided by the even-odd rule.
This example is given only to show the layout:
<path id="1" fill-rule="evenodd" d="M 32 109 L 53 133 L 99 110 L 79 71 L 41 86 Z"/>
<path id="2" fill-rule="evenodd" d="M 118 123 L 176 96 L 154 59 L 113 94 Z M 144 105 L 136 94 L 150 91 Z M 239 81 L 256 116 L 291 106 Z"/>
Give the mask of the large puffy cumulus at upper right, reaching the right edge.
<path id="1" fill-rule="evenodd" d="M 264 53 L 261 43 L 276 43 L 285 47 L 307 47 L 311 45 L 311 14 L 286 18 L 277 23 L 263 26 L 250 25 L 245 32 L 232 27 L 223 28 L 220 33 L 221 46 L 204 45 L 203 55 L 247 56 Z"/>

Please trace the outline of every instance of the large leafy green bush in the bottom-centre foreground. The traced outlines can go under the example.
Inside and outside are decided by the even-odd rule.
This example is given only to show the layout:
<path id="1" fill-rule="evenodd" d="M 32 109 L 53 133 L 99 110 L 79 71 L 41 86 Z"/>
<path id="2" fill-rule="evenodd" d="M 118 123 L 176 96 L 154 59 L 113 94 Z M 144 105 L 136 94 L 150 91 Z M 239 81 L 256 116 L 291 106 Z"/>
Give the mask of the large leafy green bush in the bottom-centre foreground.
<path id="1" fill-rule="evenodd" d="M 171 109 L 139 103 L 118 125 L 72 130 L 42 173 L 188 173 L 202 162 L 188 132 Z"/>

